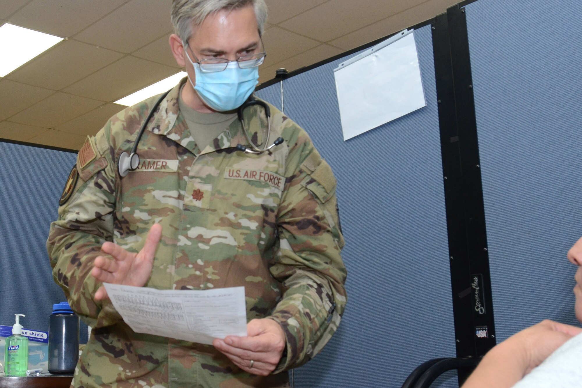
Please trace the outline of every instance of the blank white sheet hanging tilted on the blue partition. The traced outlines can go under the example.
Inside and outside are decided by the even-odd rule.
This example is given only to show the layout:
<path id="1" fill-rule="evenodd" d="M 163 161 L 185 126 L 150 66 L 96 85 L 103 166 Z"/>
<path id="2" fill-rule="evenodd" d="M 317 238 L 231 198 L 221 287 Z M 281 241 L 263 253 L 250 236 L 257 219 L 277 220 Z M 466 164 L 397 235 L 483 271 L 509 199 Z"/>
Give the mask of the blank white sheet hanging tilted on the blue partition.
<path id="1" fill-rule="evenodd" d="M 412 30 L 348 59 L 333 72 L 343 140 L 427 105 Z"/>

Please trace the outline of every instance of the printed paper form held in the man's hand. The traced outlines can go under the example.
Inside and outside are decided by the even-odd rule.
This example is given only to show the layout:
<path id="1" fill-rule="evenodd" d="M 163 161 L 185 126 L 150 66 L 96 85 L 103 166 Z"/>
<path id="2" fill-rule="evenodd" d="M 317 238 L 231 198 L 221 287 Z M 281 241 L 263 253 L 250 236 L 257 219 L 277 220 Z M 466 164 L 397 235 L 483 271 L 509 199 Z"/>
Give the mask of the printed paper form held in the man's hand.
<path id="1" fill-rule="evenodd" d="M 244 287 L 155 290 L 104 285 L 113 306 L 136 333 L 207 345 L 214 338 L 247 335 Z"/>

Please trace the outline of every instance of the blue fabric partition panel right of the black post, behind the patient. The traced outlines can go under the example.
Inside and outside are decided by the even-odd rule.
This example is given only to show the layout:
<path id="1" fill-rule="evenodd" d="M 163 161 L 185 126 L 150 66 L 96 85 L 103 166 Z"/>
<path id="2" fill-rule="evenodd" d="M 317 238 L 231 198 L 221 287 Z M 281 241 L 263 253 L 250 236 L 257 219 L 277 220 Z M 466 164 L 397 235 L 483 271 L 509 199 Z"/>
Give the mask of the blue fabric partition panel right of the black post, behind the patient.
<path id="1" fill-rule="evenodd" d="M 582 8 L 466 6 L 497 338 L 576 324 L 566 252 L 582 236 Z"/>

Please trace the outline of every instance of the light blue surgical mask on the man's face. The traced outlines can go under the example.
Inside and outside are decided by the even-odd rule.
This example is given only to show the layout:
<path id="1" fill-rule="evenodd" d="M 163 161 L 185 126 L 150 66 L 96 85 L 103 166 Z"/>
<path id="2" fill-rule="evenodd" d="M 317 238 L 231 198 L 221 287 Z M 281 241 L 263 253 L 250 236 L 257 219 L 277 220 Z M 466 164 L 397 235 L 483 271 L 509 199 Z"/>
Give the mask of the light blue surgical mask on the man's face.
<path id="1" fill-rule="evenodd" d="M 253 93 L 258 83 L 258 67 L 241 69 L 236 61 L 229 62 L 220 72 L 203 72 L 200 65 L 186 55 L 196 73 L 196 85 L 190 79 L 201 100 L 215 111 L 232 111 L 240 107 Z"/>

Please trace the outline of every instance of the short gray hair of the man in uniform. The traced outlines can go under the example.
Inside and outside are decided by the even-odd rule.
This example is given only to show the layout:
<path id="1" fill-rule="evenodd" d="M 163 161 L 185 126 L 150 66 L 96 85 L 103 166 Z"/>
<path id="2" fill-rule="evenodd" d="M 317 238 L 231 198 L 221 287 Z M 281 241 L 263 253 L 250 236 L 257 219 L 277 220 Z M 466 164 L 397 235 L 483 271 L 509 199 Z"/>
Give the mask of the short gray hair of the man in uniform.
<path id="1" fill-rule="evenodd" d="M 187 41 L 192 36 L 191 22 L 200 26 L 204 19 L 222 9 L 239 9 L 253 5 L 259 34 L 267 22 L 267 4 L 265 0 L 172 0 L 171 20 L 176 35 Z"/>

